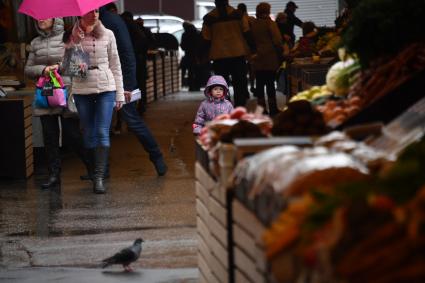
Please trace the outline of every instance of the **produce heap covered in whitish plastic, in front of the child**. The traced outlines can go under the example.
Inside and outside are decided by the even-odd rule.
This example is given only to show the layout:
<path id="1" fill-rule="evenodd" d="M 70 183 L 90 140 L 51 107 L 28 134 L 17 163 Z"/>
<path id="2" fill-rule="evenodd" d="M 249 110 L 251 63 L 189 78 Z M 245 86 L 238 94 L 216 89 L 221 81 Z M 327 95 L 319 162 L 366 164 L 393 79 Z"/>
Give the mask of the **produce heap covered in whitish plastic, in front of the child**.
<path id="1" fill-rule="evenodd" d="M 362 180 L 391 161 L 384 152 L 340 132 L 314 145 L 275 147 L 239 162 L 234 170 L 238 199 L 268 224 L 283 204 L 310 188 Z"/>

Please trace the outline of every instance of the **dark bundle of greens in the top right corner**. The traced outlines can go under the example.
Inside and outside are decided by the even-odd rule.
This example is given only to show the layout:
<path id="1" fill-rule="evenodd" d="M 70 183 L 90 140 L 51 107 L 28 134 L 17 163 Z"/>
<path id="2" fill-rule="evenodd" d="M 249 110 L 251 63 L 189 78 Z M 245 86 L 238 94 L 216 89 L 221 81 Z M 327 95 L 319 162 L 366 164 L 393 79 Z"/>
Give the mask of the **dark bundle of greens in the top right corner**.
<path id="1" fill-rule="evenodd" d="M 362 0 L 353 10 L 343 43 L 367 68 L 406 46 L 425 42 L 425 0 Z"/>

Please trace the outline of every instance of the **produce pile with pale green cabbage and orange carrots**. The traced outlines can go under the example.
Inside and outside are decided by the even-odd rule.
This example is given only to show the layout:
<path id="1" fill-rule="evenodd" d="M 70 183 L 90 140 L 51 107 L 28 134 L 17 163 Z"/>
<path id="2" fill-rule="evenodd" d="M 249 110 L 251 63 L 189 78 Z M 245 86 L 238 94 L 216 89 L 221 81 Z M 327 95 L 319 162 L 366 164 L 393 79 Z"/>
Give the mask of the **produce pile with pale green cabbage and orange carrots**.
<path id="1" fill-rule="evenodd" d="M 393 59 L 368 69 L 360 69 L 354 59 L 337 62 L 327 73 L 326 85 L 302 91 L 290 101 L 311 102 L 323 114 L 325 124 L 333 128 L 403 83 L 423 76 L 424 71 L 425 43 L 414 43 Z"/>

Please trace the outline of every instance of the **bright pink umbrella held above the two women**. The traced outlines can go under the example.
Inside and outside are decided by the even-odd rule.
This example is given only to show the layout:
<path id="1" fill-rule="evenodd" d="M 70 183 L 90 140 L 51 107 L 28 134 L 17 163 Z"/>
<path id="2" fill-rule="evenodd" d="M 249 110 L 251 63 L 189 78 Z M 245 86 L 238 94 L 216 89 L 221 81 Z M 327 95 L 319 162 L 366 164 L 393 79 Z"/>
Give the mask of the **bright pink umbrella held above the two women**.
<path id="1" fill-rule="evenodd" d="M 18 12 L 37 20 L 82 16 L 115 0 L 24 0 Z"/>

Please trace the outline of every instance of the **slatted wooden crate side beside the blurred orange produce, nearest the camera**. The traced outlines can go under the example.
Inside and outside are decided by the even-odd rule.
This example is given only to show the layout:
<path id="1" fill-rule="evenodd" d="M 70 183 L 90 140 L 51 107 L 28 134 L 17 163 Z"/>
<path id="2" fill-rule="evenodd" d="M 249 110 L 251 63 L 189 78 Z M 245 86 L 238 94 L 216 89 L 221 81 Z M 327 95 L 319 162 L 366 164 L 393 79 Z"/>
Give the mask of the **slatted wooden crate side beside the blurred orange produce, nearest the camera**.
<path id="1" fill-rule="evenodd" d="M 265 227 L 237 199 L 232 202 L 232 229 L 235 282 L 269 282 L 269 266 L 261 240 Z"/>

